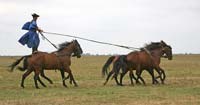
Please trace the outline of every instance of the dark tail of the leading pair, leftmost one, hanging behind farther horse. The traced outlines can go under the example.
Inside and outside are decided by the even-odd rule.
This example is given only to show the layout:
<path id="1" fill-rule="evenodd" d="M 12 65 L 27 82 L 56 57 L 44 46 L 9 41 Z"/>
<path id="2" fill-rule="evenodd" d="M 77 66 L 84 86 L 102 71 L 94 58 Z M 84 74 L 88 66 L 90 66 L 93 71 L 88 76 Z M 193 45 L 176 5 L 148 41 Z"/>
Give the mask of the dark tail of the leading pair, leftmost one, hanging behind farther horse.
<path id="1" fill-rule="evenodd" d="M 115 56 L 111 56 L 111 57 L 108 58 L 108 60 L 104 64 L 104 66 L 102 68 L 102 76 L 103 77 L 105 76 L 105 74 L 108 74 L 108 68 L 109 68 L 110 64 L 113 62 L 114 59 L 115 59 Z"/>

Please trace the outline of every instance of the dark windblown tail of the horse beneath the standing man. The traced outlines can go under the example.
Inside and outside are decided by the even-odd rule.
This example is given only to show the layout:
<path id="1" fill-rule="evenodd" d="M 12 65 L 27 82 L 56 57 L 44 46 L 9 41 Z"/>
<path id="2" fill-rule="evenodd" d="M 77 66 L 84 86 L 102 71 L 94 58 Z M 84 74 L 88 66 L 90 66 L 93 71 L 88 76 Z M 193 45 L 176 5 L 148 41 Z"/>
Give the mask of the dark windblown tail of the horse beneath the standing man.
<path id="1" fill-rule="evenodd" d="M 9 67 L 11 67 L 10 71 L 12 72 L 14 68 L 24 59 L 23 67 L 18 67 L 20 71 L 25 71 L 28 66 L 27 58 L 31 55 L 22 56 L 20 59 L 17 59 L 15 62 L 13 62 Z"/>

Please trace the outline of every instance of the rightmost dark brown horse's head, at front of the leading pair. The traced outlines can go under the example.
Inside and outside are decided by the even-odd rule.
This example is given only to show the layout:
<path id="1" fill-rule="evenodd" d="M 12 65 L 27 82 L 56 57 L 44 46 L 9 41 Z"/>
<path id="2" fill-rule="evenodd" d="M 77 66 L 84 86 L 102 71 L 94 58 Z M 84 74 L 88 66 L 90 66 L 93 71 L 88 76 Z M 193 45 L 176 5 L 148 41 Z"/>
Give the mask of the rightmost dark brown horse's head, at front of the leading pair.
<path id="1" fill-rule="evenodd" d="M 161 41 L 162 51 L 165 54 L 165 58 L 172 60 L 172 47 L 167 45 L 164 41 Z"/>

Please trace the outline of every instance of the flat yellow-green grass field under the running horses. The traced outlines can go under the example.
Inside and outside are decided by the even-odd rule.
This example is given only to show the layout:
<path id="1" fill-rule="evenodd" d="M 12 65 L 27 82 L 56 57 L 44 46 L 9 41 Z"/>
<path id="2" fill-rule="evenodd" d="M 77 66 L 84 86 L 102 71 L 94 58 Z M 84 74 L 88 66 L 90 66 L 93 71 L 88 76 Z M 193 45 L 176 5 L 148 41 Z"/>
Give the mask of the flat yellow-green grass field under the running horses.
<path id="1" fill-rule="evenodd" d="M 116 86 L 114 80 L 103 86 L 101 67 L 108 56 L 83 56 L 72 59 L 72 71 L 79 87 L 61 83 L 60 72 L 45 71 L 54 84 L 42 79 L 47 88 L 35 89 L 33 74 L 19 84 L 23 72 L 7 71 L 16 57 L 0 57 L 0 105 L 200 105 L 200 55 L 175 55 L 172 61 L 162 59 L 167 78 L 165 85 L 152 85 L 145 71 L 147 85 Z"/>

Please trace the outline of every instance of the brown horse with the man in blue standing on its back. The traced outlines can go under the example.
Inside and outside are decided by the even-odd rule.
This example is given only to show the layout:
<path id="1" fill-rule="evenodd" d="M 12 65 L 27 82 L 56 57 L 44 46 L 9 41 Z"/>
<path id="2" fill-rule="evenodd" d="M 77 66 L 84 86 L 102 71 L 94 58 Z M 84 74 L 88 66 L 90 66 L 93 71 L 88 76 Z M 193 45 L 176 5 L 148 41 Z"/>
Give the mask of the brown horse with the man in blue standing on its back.
<path id="1" fill-rule="evenodd" d="M 46 85 L 39 78 L 39 74 L 41 74 L 42 77 L 44 77 L 48 81 L 51 81 L 44 75 L 44 69 L 45 70 L 59 69 L 61 72 L 62 82 L 64 87 L 67 87 L 67 85 L 65 84 L 66 78 L 64 75 L 64 72 L 67 72 L 69 74 L 70 79 L 73 81 L 74 85 L 78 86 L 76 81 L 74 80 L 72 71 L 70 69 L 71 56 L 77 56 L 77 58 L 80 58 L 82 53 L 83 53 L 82 48 L 77 40 L 73 40 L 71 42 L 64 42 L 59 45 L 59 49 L 55 52 L 47 53 L 38 51 L 33 53 L 32 55 L 22 56 L 20 59 L 18 59 L 11 65 L 11 71 L 13 71 L 14 68 L 24 59 L 23 63 L 24 67 L 20 68 L 21 70 L 27 70 L 27 71 L 22 75 L 22 80 L 21 80 L 22 88 L 24 88 L 24 80 L 32 71 L 34 71 L 35 73 L 34 75 L 35 87 L 39 88 L 37 80 L 44 87 L 46 87 Z"/>

